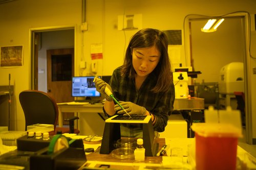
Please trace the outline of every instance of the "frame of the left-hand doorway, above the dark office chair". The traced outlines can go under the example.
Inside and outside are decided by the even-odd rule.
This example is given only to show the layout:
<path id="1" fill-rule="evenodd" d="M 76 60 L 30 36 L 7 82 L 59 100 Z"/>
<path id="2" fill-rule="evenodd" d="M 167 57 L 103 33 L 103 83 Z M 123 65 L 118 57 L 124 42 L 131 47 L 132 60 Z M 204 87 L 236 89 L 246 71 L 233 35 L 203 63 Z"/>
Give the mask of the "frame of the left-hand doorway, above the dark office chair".
<path id="1" fill-rule="evenodd" d="M 74 64 L 76 62 L 76 37 L 77 37 L 77 26 L 76 25 L 69 25 L 69 26 L 55 26 L 55 27 L 42 27 L 42 28 L 33 28 L 29 30 L 29 51 L 30 51 L 30 56 L 31 56 L 31 68 L 30 68 L 30 85 L 29 88 L 33 90 L 37 90 L 37 72 L 38 72 L 38 62 L 37 62 L 37 57 L 36 56 L 36 45 L 40 42 L 36 40 L 36 33 L 40 32 L 49 32 L 49 31 L 59 31 L 59 30 L 74 30 Z M 75 71 L 76 69 L 74 69 Z M 75 71 L 76 72 L 76 71 Z M 74 72 L 74 74 L 75 74 Z"/>

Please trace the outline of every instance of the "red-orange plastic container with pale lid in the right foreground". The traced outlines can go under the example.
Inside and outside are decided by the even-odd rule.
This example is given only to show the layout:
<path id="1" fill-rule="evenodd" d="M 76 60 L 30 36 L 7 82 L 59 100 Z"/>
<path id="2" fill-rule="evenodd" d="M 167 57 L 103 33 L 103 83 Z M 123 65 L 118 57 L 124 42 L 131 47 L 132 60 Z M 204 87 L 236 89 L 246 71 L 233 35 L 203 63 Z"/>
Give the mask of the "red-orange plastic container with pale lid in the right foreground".
<path id="1" fill-rule="evenodd" d="M 236 169 L 240 130 L 226 124 L 193 124 L 196 138 L 196 169 Z"/>

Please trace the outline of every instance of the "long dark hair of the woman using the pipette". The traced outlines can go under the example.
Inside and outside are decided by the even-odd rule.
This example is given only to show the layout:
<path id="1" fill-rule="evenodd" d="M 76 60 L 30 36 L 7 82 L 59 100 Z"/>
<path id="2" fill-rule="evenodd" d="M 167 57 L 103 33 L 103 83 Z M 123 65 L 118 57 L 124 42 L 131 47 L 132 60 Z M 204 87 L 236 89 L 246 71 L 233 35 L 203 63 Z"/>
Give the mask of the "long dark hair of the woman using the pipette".
<path id="1" fill-rule="evenodd" d="M 153 70 L 158 75 L 158 81 L 152 91 L 166 91 L 170 85 L 168 82 L 172 82 L 172 72 L 168 56 L 168 38 L 160 30 L 151 28 L 142 29 L 131 38 L 126 49 L 121 75 L 129 78 L 135 77 L 136 72 L 132 62 L 134 48 L 152 47 L 154 45 L 156 45 L 161 56 L 156 68 Z"/>

